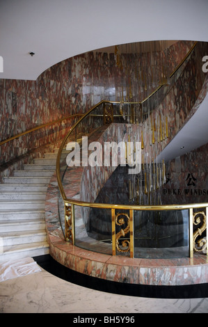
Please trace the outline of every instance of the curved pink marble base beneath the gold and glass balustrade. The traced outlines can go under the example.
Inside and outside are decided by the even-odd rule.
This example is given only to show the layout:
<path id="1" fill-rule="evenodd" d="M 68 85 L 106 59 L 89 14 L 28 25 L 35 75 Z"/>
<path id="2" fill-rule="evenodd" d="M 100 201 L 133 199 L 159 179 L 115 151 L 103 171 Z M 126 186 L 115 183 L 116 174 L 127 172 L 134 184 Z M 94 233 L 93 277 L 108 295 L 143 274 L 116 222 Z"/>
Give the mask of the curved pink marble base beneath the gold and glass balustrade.
<path id="1" fill-rule="evenodd" d="M 143 259 L 105 255 L 65 242 L 58 219 L 58 186 L 51 177 L 45 203 L 50 255 L 69 269 L 88 276 L 136 285 L 194 285 L 208 282 L 205 254 L 193 258 Z"/>

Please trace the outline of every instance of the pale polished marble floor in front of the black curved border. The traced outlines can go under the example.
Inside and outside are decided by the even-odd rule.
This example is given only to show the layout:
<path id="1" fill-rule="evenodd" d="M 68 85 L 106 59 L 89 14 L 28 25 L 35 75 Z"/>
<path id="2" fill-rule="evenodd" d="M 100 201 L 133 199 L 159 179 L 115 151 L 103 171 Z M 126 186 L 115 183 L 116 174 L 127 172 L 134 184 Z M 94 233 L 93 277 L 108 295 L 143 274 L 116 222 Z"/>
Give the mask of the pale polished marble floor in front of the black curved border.
<path id="1" fill-rule="evenodd" d="M 39 266 L 39 265 L 38 265 Z M 1 313 L 207 313 L 207 298 L 150 298 L 100 292 L 40 271 L 0 282 Z M 88 315 L 88 317 L 90 317 Z"/>

